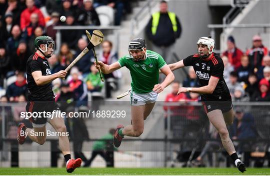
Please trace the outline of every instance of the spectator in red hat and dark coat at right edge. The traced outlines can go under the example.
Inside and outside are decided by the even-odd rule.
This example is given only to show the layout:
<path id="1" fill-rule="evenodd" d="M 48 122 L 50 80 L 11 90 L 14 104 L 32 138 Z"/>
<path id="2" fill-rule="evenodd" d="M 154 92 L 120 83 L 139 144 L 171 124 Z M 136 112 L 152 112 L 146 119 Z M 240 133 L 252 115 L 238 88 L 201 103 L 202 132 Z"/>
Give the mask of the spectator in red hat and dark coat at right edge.
<path id="1" fill-rule="evenodd" d="M 262 78 L 259 81 L 259 91 L 254 92 L 250 101 L 270 101 L 269 81 Z"/>

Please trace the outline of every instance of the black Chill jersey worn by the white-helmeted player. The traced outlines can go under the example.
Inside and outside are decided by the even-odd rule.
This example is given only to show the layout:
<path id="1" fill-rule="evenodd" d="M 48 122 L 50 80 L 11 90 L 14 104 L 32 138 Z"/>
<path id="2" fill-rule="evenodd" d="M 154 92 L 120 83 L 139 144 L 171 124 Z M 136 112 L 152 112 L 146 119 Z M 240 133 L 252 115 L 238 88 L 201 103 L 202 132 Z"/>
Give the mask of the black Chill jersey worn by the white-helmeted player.
<path id="1" fill-rule="evenodd" d="M 202 59 L 198 54 L 189 55 L 183 59 L 183 64 L 193 66 L 200 86 L 208 85 L 211 76 L 219 79 L 213 93 L 202 94 L 202 100 L 220 100 L 224 95 L 230 96 L 223 78 L 224 64 L 219 55 L 211 53 L 211 57 L 208 59 Z"/>

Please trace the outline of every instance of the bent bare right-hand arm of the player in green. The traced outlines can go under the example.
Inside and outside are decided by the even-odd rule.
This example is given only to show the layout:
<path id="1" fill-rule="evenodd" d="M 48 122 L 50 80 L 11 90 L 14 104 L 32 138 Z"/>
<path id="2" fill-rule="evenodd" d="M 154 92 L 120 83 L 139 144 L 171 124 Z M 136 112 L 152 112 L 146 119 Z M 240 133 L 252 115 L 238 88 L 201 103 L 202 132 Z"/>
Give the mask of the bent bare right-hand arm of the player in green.
<path id="1" fill-rule="evenodd" d="M 160 93 L 161 91 L 163 91 L 163 89 L 174 80 L 174 74 L 169 69 L 168 65 L 165 65 L 163 68 L 160 69 L 160 71 L 164 73 L 166 77 L 162 83 L 154 85 L 153 91 L 155 91 L 156 93 Z"/>

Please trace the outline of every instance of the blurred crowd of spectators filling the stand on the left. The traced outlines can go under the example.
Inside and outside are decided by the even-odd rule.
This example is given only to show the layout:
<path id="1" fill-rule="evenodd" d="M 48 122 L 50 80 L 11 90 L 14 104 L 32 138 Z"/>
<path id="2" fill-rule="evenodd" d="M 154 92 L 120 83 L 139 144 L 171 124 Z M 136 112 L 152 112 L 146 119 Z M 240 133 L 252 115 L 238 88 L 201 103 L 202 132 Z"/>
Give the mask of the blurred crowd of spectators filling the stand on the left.
<path id="1" fill-rule="evenodd" d="M 0 0 L 1 99 L 13 102 L 20 96 L 27 98 L 24 75 L 26 61 L 35 51 L 35 37 L 49 35 L 55 40 L 55 25 L 100 25 L 95 8 L 104 5 L 115 8 L 114 25 L 120 25 L 122 14 L 131 10 L 128 0 Z M 65 22 L 59 21 L 61 15 L 66 16 Z M 61 34 L 59 52 L 48 59 L 51 73 L 66 68 L 87 45 L 82 31 L 64 30 Z M 117 53 L 112 51 L 112 42 L 108 40 L 102 43 L 100 54 L 104 63 L 117 59 Z M 69 84 L 68 91 L 76 96 L 74 100 L 87 101 L 87 91 L 101 91 L 103 83 L 92 64 L 93 53 L 88 52 L 70 70 L 65 83 Z M 117 72 L 106 76 L 110 80 L 105 82 L 106 97 L 110 97 L 110 90 L 116 88 L 117 76 L 120 76 Z M 56 100 L 61 99 L 59 94 L 64 89 L 61 87 L 65 86 L 61 84 L 59 80 L 53 82 Z"/>

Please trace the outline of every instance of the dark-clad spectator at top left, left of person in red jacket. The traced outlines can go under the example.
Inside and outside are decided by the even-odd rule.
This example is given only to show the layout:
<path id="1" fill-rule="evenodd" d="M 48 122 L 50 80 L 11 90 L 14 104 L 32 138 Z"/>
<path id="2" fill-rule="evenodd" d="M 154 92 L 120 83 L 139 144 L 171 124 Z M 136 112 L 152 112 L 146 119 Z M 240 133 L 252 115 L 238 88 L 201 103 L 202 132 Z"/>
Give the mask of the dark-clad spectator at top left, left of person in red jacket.
<path id="1" fill-rule="evenodd" d="M 7 0 L 8 7 L 5 10 L 5 14 L 12 13 L 13 15 L 13 24 L 20 24 L 20 15 L 22 10 L 25 8 L 25 5 L 19 3 L 18 0 Z M 1 10 L 3 10 L 1 8 Z M 4 10 L 3 10 L 4 11 Z"/>

